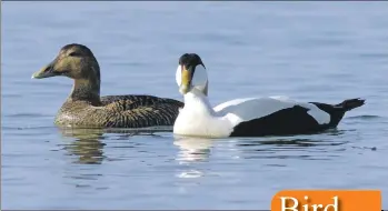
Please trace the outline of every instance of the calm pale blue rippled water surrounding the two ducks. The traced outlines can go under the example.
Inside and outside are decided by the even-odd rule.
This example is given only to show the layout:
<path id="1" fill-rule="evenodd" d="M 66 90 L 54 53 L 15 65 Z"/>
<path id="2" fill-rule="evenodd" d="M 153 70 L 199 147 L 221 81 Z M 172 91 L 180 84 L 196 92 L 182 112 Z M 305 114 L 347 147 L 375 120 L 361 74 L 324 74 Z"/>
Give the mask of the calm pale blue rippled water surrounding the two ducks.
<path id="1" fill-rule="evenodd" d="M 381 189 L 388 208 L 388 2 L 6 2 L 3 209 L 269 209 L 290 188 Z M 338 130 L 258 139 L 59 130 L 66 78 L 32 80 L 59 49 L 97 56 L 102 94 L 182 99 L 178 58 L 199 53 L 213 104 L 366 98 Z"/>

